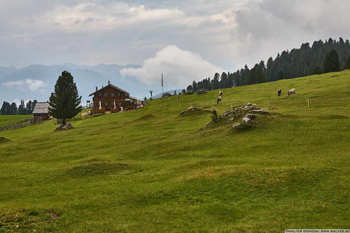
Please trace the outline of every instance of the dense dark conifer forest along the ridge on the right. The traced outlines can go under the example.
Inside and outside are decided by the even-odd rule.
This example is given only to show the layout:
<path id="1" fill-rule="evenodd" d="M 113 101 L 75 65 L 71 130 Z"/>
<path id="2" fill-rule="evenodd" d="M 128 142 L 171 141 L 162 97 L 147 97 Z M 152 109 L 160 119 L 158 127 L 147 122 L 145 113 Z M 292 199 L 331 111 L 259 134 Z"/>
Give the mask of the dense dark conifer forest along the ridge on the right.
<path id="1" fill-rule="evenodd" d="M 266 65 L 261 60 L 252 69 L 245 65 L 233 73 L 215 73 L 212 79 L 208 77 L 198 83 L 193 80 L 186 90 L 215 90 L 350 69 L 349 55 L 348 39 L 344 41 L 339 37 L 336 41 L 329 38 L 325 42 L 320 39 L 314 41 L 311 47 L 309 43 L 303 43 L 300 49 L 277 53 L 276 58 L 270 57 Z"/>

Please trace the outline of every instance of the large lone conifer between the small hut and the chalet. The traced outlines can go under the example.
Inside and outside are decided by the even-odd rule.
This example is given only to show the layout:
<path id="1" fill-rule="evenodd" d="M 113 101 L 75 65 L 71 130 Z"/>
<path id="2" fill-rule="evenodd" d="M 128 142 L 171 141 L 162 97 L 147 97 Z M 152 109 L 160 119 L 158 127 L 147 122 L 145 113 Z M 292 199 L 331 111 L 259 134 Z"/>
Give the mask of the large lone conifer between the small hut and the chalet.
<path id="1" fill-rule="evenodd" d="M 66 119 L 72 118 L 81 110 L 78 90 L 73 76 L 68 71 L 63 71 L 55 84 L 55 93 L 51 93 L 49 98 L 49 113 L 57 119 L 62 119 L 65 124 Z"/>

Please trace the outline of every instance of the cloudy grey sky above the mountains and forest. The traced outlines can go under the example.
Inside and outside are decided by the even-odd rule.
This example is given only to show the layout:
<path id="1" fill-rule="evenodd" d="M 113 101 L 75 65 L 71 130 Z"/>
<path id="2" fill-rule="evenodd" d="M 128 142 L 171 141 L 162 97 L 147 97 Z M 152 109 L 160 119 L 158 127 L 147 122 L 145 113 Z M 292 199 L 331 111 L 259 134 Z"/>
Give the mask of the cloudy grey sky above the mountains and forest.
<path id="1" fill-rule="evenodd" d="M 0 0 L 0 66 L 135 64 L 121 74 L 159 86 L 163 73 L 175 89 L 302 43 L 349 39 L 349 9 L 349 0 Z"/>

